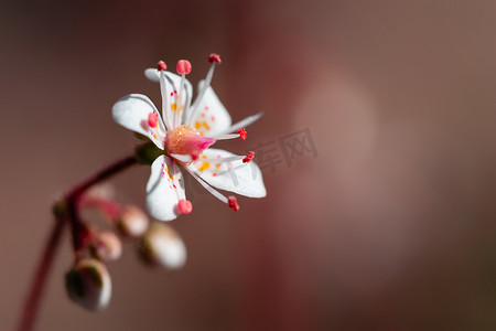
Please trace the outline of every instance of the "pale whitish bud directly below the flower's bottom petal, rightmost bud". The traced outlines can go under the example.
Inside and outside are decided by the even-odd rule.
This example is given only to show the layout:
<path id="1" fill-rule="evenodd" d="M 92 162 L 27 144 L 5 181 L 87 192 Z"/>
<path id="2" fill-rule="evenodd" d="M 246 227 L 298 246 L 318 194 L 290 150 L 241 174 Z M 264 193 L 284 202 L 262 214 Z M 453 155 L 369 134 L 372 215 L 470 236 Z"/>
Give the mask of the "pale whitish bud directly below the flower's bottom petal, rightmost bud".
<path id="1" fill-rule="evenodd" d="M 186 247 L 170 226 L 154 223 L 139 242 L 140 257 L 148 264 L 179 269 L 186 261 Z"/>

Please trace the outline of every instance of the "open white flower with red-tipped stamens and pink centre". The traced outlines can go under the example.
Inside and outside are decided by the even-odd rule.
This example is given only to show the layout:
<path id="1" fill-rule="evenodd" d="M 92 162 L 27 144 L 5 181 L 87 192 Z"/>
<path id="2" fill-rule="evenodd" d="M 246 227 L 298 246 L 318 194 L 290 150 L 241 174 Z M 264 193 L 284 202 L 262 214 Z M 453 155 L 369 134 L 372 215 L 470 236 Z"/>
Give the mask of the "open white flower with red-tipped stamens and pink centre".
<path id="1" fill-rule="evenodd" d="M 185 197 L 181 168 L 235 211 L 239 209 L 236 197 L 226 197 L 214 188 L 250 197 L 267 194 L 260 169 L 250 162 L 252 152 L 236 156 L 208 148 L 222 139 L 245 139 L 244 127 L 261 116 L 257 114 L 231 125 L 229 114 L 211 87 L 215 65 L 220 63 L 220 58 L 212 54 L 208 61 L 211 68 L 206 78 L 200 82 L 200 92 L 193 104 L 193 88 L 185 78 L 191 64 L 181 60 L 176 65 L 181 76 L 166 72 L 163 62 L 159 62 L 157 70 L 144 71 L 149 79 L 160 82 L 162 116 L 153 103 L 140 94 L 125 96 L 112 108 L 115 121 L 150 138 L 163 150 L 151 166 L 147 184 L 148 210 L 161 221 L 171 221 L 192 211 L 191 202 Z"/>

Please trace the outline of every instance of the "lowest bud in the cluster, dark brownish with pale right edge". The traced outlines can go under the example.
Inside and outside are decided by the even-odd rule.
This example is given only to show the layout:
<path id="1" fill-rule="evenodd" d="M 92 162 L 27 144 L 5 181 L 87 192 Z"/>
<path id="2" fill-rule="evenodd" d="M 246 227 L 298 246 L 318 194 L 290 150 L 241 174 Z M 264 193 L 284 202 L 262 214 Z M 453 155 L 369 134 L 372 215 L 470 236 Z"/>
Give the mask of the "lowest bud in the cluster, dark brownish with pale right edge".
<path id="1" fill-rule="evenodd" d="M 110 275 L 97 259 L 79 260 L 65 276 L 65 286 L 69 298 L 88 310 L 101 310 L 110 301 Z"/>

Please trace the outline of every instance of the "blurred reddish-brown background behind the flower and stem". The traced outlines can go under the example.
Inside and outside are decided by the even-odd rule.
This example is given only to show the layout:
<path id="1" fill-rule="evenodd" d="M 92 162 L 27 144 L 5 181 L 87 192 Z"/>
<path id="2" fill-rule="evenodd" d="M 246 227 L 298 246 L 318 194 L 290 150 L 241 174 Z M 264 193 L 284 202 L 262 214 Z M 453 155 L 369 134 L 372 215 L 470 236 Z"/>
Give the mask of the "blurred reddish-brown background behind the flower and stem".
<path id="1" fill-rule="evenodd" d="M 112 104 L 159 104 L 144 68 L 188 58 L 197 82 L 216 52 L 234 120 L 266 114 L 223 147 L 308 128 L 317 157 L 263 169 L 267 199 L 240 197 L 239 213 L 194 191 L 172 223 L 187 265 L 144 268 L 126 244 L 99 313 L 65 295 L 67 234 L 37 330 L 494 330 L 495 13 L 489 0 L 2 1 L 0 329 L 54 196 L 136 145 Z M 148 175 L 112 182 L 143 205 Z"/>

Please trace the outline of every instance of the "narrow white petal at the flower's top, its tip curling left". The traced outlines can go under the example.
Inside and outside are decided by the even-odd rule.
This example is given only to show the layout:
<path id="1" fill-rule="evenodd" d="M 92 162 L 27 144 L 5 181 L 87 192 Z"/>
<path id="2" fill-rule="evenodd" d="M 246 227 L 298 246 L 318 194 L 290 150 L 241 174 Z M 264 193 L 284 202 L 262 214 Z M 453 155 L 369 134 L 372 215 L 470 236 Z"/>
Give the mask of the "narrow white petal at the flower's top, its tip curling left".
<path id="1" fill-rule="evenodd" d="M 184 108 L 187 108 L 187 106 L 191 104 L 191 99 L 193 96 L 193 86 L 191 85 L 191 83 L 185 79 L 184 84 L 186 86 L 185 88 L 185 102 L 186 103 L 182 103 L 182 105 L 177 105 L 176 103 L 176 96 L 177 93 L 180 93 L 180 87 L 181 87 L 181 76 L 173 74 L 171 72 L 164 71 L 163 72 L 165 75 L 165 88 L 168 90 L 168 105 L 170 109 L 162 109 L 162 114 L 164 114 L 164 111 L 176 111 L 177 109 L 180 111 L 184 110 Z M 160 82 L 160 72 L 158 70 L 154 68 L 148 68 L 144 71 L 144 75 L 147 76 L 147 78 L 149 78 L 152 82 Z M 174 110 L 175 109 L 175 110 Z M 164 115 L 165 116 L 165 115 Z M 171 117 L 172 118 L 172 117 Z"/>

